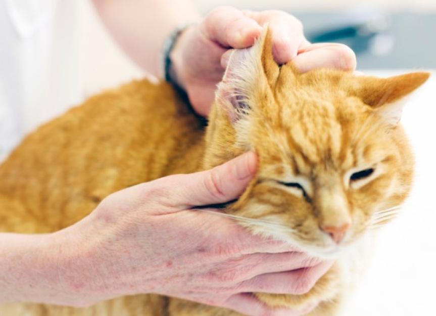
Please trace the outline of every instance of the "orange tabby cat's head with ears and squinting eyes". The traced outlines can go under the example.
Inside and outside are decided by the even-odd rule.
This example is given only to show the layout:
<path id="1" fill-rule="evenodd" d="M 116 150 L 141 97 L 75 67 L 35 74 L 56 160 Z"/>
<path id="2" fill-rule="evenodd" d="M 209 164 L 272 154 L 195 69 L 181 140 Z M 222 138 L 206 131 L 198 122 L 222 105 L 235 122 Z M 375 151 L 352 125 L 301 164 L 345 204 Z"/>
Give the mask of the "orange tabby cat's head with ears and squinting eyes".
<path id="1" fill-rule="evenodd" d="M 255 233 L 316 256 L 336 254 L 389 221 L 385 210 L 404 201 L 413 176 L 398 125 L 403 98 L 427 77 L 300 74 L 274 62 L 265 30 L 230 58 L 207 131 L 205 167 L 248 150 L 259 157 L 256 177 L 228 211 L 260 219 Z"/>

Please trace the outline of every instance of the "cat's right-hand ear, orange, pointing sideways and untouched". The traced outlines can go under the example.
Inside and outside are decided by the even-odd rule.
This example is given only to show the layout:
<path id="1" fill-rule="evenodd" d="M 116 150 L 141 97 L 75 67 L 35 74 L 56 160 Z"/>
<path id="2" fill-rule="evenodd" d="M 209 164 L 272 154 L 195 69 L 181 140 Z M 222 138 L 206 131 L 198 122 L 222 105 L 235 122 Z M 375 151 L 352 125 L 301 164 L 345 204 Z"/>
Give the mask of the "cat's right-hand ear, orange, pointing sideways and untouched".
<path id="1" fill-rule="evenodd" d="M 389 78 L 358 76 L 351 81 L 350 94 L 374 108 L 388 123 L 396 125 L 401 119 L 405 97 L 429 75 L 428 72 L 412 72 Z"/>

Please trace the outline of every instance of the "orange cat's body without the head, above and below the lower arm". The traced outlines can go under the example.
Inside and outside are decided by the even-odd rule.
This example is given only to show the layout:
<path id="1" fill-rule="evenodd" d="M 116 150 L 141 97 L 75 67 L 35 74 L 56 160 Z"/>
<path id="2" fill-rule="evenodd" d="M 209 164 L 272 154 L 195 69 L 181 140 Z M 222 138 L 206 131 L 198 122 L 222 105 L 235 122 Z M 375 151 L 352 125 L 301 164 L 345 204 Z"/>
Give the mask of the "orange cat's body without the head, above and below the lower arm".
<path id="1" fill-rule="evenodd" d="M 39 128 L 0 165 L 0 232 L 58 231 L 89 214 L 113 192 L 168 174 L 200 170 L 204 134 L 202 121 L 168 84 L 135 81 L 93 97 Z M 319 286 L 324 279 L 339 286 L 338 270 L 333 268 Z M 335 296 L 330 292 L 328 298 L 329 294 Z M 296 306 L 305 302 L 299 296 L 287 297 Z M 238 315 L 159 295 L 126 296 L 87 308 L 0 304 L 0 315 L 29 312 L 32 316 Z"/>

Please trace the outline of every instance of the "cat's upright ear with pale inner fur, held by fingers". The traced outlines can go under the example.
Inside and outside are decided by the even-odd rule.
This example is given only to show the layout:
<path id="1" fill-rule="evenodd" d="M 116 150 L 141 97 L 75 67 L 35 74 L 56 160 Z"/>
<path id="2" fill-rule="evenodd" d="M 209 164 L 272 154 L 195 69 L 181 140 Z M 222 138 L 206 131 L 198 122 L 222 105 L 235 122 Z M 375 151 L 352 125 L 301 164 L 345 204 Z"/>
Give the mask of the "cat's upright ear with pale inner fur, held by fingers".
<path id="1" fill-rule="evenodd" d="M 230 120 L 236 121 L 250 113 L 254 95 L 267 93 L 278 74 L 279 67 L 272 55 L 271 31 L 266 26 L 252 47 L 233 51 L 218 84 L 216 100 Z"/>

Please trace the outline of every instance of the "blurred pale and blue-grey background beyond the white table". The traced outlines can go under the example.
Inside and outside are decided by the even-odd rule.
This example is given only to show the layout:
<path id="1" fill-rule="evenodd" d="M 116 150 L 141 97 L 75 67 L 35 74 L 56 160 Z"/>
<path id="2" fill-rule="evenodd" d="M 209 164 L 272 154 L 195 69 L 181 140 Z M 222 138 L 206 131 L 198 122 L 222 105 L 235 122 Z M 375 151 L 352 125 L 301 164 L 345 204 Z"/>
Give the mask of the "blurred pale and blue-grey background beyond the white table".
<path id="1" fill-rule="evenodd" d="M 231 5 L 279 9 L 304 24 L 310 41 L 338 41 L 357 54 L 358 68 L 436 68 L 436 0 L 195 0 L 206 14 Z M 132 77 L 143 77 L 115 46 L 88 1 L 81 1 L 81 63 L 85 91 L 92 94 Z"/>

